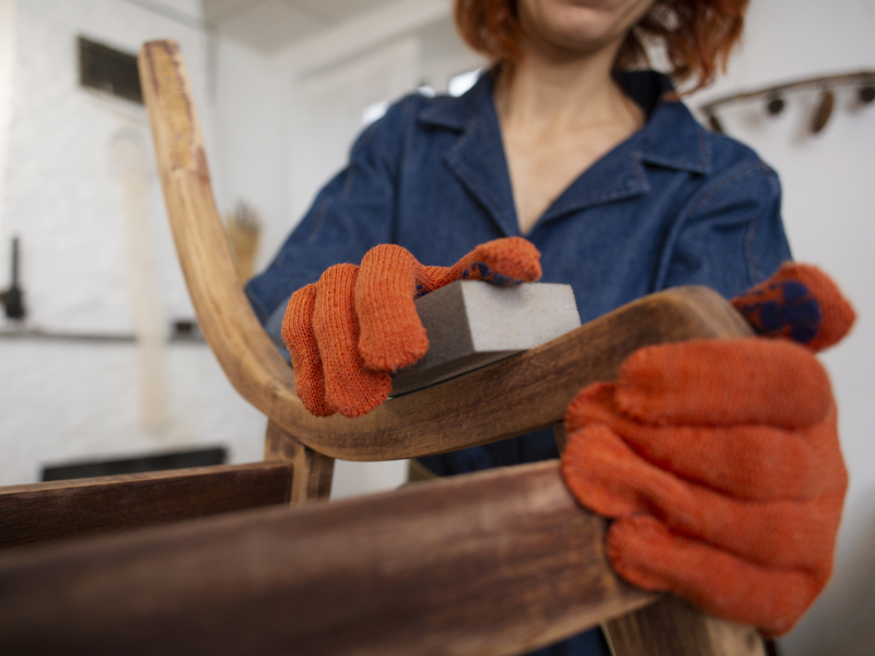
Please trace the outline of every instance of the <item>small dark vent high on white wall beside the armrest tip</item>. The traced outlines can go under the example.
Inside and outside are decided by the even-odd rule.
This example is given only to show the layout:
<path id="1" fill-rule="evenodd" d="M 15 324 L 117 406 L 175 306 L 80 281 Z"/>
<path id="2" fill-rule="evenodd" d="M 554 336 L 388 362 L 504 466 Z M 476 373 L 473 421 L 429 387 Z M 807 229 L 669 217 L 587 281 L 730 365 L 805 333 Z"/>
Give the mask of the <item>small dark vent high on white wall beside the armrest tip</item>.
<path id="1" fill-rule="evenodd" d="M 79 83 L 143 104 L 137 56 L 79 37 Z"/>

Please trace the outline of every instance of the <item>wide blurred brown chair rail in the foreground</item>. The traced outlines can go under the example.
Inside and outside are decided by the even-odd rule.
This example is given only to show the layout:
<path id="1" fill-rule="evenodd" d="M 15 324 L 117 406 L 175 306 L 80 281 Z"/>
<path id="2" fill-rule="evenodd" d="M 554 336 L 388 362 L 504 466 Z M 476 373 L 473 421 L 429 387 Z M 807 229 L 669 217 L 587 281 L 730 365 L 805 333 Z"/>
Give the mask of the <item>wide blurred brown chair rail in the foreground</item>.
<path id="1" fill-rule="evenodd" d="M 4 654 L 515 654 L 653 599 L 556 461 L 0 554 Z"/>

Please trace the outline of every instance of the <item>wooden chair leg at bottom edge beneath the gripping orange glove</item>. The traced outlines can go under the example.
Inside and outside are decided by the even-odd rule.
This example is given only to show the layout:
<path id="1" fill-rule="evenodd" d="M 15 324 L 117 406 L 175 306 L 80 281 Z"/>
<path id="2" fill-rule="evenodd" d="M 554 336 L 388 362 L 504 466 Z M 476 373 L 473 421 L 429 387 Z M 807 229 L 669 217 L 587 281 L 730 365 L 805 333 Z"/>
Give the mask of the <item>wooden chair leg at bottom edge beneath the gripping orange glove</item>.
<path id="1" fill-rule="evenodd" d="M 674 595 L 607 622 L 607 635 L 616 656 L 766 656 L 756 629 L 703 616 Z"/>

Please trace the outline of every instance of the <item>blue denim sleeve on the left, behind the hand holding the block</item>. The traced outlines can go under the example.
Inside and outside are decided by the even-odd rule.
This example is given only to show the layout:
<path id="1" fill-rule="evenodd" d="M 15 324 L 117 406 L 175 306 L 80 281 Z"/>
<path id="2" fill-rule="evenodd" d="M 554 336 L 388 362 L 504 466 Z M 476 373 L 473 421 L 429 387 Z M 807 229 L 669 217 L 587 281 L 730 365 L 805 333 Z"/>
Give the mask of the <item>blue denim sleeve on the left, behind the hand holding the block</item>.
<path id="1" fill-rule="evenodd" d="M 406 114 L 398 103 L 364 130 L 346 168 L 318 192 L 268 268 L 246 285 L 261 324 L 281 314 L 289 296 L 328 267 L 358 265 L 370 248 L 392 241 Z"/>

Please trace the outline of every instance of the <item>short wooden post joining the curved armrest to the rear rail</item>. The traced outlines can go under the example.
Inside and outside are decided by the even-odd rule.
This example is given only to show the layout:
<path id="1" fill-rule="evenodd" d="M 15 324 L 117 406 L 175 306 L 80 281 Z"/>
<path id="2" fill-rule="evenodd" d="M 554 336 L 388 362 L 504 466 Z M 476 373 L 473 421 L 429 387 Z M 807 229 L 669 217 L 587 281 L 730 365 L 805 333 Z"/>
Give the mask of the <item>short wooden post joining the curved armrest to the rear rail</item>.
<path id="1" fill-rule="evenodd" d="M 265 460 L 291 462 L 294 467 L 290 500 L 292 505 L 328 499 L 331 493 L 335 459 L 301 444 L 272 421 L 268 421 L 265 435 Z"/>

